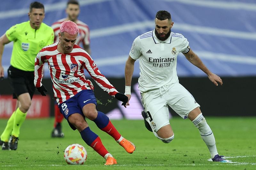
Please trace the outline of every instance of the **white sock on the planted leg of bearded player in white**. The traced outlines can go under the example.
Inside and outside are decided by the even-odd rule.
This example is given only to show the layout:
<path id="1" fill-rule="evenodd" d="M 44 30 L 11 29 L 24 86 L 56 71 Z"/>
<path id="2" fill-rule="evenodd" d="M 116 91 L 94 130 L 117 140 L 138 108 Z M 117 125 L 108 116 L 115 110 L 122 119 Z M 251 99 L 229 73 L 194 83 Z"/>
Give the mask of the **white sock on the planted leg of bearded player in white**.
<path id="1" fill-rule="evenodd" d="M 214 156 L 218 154 L 215 144 L 215 138 L 203 114 L 200 113 L 192 122 L 194 123 L 196 128 L 198 128 L 204 143 L 206 144 L 211 153 L 211 157 L 214 158 Z"/>

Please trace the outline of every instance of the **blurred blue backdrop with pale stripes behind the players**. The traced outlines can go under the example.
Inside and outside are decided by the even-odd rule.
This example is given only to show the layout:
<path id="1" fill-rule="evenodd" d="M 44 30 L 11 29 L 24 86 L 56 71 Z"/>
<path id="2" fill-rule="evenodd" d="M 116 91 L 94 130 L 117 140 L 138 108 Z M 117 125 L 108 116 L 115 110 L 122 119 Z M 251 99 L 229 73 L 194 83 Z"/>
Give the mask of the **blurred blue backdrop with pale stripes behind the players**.
<path id="1" fill-rule="evenodd" d="M 66 1 L 38 1 L 45 5 L 44 23 L 52 25 L 56 20 L 66 17 Z M 28 20 L 27 13 L 31 2 L 33 1 L 9 0 L 1 3 L 1 35 L 12 25 Z M 132 42 L 136 36 L 154 29 L 155 14 L 159 10 L 171 12 L 174 21 L 172 32 L 183 34 L 188 39 L 191 49 L 213 73 L 234 79 L 254 77 L 255 80 L 256 2 L 254 0 L 80 0 L 79 2 L 81 10 L 79 19 L 90 27 L 92 58 L 107 78 L 120 78 L 121 86 L 124 85 L 124 65 Z M 12 43 L 5 45 L 2 58 L 5 77 L 11 52 Z M 190 64 L 182 54 L 178 58 L 177 72 L 182 78 L 206 78 L 205 74 Z M 46 67 L 44 76 L 49 79 Z M 134 77 L 138 78 L 138 76 L 139 66 L 136 61 Z M 237 80 L 243 81 L 243 79 Z M 255 82 L 252 83 L 253 79 L 250 80 L 245 86 L 248 89 L 255 85 Z M 0 86 L 4 87 L 5 82 L 0 82 Z M 206 86 L 214 88 L 209 84 Z M 136 105 L 138 108 L 134 112 L 138 113 L 142 108 L 136 87 L 137 85 L 133 90 L 134 96 L 137 96 L 134 102 L 139 104 Z M 193 90 L 193 87 L 190 88 Z M 123 90 L 120 89 L 121 92 Z M 251 92 L 255 94 L 253 90 Z M 6 94 L 6 90 L 0 88 L 0 94 Z M 125 113 L 122 109 L 118 107 L 116 109 L 118 111 L 115 113 L 121 114 L 117 118 L 124 117 Z"/>

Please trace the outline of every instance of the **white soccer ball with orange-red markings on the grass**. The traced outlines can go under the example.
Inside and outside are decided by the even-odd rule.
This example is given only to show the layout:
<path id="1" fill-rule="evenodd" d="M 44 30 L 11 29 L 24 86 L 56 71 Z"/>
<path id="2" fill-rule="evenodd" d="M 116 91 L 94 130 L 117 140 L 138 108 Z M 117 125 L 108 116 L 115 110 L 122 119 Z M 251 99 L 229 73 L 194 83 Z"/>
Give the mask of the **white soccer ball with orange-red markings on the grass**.
<path id="1" fill-rule="evenodd" d="M 87 159 L 87 152 L 80 144 L 71 144 L 64 151 L 64 159 L 71 165 L 82 165 Z"/>

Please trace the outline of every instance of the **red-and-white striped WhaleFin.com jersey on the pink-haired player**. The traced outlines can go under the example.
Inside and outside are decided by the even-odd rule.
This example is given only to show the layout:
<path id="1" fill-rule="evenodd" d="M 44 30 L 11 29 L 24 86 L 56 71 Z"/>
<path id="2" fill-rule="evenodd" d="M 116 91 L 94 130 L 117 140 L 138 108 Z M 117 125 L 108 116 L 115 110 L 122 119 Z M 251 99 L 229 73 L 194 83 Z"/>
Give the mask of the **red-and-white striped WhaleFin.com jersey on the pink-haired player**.
<path id="1" fill-rule="evenodd" d="M 92 82 L 86 80 L 84 69 L 109 95 L 114 97 L 118 93 L 108 79 L 100 73 L 99 68 L 85 50 L 75 44 L 70 53 L 61 54 L 57 50 L 57 45 L 58 43 L 48 45 L 37 54 L 34 79 L 36 87 L 42 86 L 43 66 L 47 62 L 53 83 L 54 97 L 58 104 L 82 90 L 94 89 Z"/>

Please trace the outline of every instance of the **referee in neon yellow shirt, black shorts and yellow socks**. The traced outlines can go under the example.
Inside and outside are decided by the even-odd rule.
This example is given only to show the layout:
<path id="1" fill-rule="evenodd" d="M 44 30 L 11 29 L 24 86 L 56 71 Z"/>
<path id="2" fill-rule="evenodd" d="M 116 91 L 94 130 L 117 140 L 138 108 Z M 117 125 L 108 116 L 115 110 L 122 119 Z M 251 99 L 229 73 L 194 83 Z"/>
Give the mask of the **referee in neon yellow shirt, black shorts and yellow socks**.
<path id="1" fill-rule="evenodd" d="M 26 119 L 35 91 L 34 63 L 36 55 L 44 46 L 52 44 L 54 40 L 53 29 L 43 23 L 44 16 L 44 5 L 32 2 L 28 12 L 29 21 L 12 26 L 0 38 L 0 77 L 4 77 L 4 68 L 1 62 L 4 45 L 13 41 L 8 80 L 13 89 L 13 98 L 17 99 L 16 110 L 7 121 L 1 135 L 2 150 L 16 150 L 18 147 L 20 126 Z"/>

